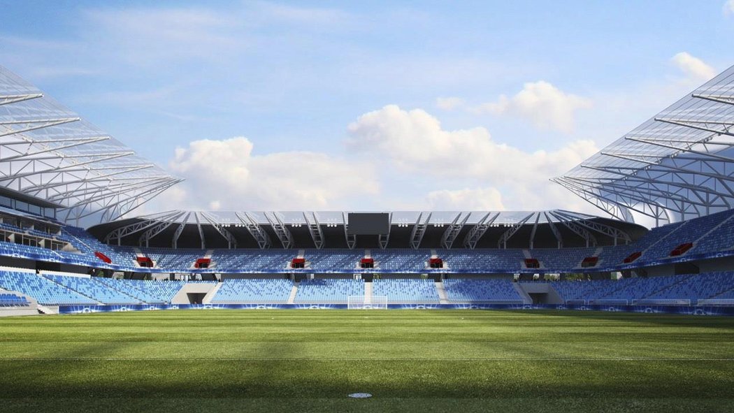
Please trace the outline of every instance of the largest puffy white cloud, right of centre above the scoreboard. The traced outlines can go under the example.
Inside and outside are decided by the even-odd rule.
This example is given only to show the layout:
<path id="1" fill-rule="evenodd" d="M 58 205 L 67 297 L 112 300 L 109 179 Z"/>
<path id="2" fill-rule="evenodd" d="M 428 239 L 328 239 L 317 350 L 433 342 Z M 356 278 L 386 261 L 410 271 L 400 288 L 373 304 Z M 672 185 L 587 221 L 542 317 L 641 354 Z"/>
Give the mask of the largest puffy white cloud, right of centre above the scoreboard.
<path id="1" fill-rule="evenodd" d="M 473 194 L 481 199 L 471 202 L 512 209 L 578 205 L 560 186 L 561 191 L 549 189 L 557 184 L 548 178 L 567 172 L 598 150 L 594 142 L 580 140 L 558 150 L 530 153 L 495 142 L 485 128 L 446 131 L 424 110 L 407 111 L 395 105 L 363 114 L 349 125 L 349 134 L 347 145 L 354 153 L 382 160 L 381 169 L 389 174 L 435 180 L 437 193 L 428 195 L 429 203 L 444 196 L 458 209 L 467 209 L 459 208 L 461 202 L 473 205 L 469 204 Z M 484 189 L 457 190 L 458 185 Z M 493 197 L 493 189 L 503 197 Z"/>

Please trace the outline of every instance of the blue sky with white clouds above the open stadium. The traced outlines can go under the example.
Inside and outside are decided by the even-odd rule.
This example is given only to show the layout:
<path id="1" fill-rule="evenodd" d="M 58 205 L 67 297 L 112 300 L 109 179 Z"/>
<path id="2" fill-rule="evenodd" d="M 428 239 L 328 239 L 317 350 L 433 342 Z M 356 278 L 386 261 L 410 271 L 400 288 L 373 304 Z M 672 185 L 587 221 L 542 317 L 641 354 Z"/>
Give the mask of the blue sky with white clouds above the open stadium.
<path id="1" fill-rule="evenodd" d="M 734 65 L 734 0 L 0 10 L 0 65 L 185 179 L 136 213 L 601 213 L 549 178 Z"/>

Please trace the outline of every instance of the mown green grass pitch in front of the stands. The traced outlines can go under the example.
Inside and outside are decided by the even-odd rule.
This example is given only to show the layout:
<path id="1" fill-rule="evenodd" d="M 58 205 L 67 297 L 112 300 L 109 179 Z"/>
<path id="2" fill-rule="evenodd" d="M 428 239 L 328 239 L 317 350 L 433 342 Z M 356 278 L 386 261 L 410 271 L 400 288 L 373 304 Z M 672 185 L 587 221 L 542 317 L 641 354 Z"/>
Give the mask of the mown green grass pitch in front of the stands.
<path id="1" fill-rule="evenodd" d="M 732 412 L 734 318 L 481 310 L 2 318 L 0 411 Z"/>

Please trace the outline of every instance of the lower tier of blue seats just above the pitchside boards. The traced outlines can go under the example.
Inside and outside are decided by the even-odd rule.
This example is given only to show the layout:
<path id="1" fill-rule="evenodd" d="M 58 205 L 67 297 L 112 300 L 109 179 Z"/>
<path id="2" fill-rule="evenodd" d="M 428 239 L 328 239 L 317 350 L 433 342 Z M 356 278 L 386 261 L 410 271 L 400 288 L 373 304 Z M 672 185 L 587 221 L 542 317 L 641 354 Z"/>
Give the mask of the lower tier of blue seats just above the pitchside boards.
<path id="1" fill-rule="evenodd" d="M 170 302 L 185 284 L 182 281 L 120 280 L 0 271 L 0 288 L 18 291 L 32 296 L 40 304 L 50 305 L 163 304 Z M 560 281 L 550 282 L 549 285 L 567 303 L 633 304 L 635 301 L 645 301 L 664 304 L 670 301 L 671 304 L 697 304 L 699 300 L 734 300 L 734 272 L 730 271 L 619 280 Z M 523 296 L 516 286 L 510 279 L 448 278 L 443 282 L 446 299 L 457 303 L 520 303 Z M 286 303 L 294 287 L 296 304 L 344 304 L 349 296 L 365 295 L 366 289 L 365 283 L 359 279 L 310 279 L 295 284 L 289 279 L 227 279 L 219 285 L 212 302 Z M 436 284 L 431 279 L 374 279 L 371 288 L 372 296 L 385 296 L 390 304 L 440 302 Z M 0 302 L 4 302 L 4 294 L 0 294 Z M 7 294 L 9 300 L 15 300 L 12 293 Z"/>

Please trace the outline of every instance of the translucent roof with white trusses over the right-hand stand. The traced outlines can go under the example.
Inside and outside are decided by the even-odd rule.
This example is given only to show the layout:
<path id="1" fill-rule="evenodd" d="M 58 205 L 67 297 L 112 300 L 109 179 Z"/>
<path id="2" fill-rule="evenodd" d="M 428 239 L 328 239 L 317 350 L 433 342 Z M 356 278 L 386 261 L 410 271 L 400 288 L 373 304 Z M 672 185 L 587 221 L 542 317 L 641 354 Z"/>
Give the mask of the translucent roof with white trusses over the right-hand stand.
<path id="1" fill-rule="evenodd" d="M 734 66 L 553 180 L 628 222 L 731 209 L 733 127 Z"/>

